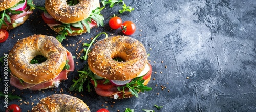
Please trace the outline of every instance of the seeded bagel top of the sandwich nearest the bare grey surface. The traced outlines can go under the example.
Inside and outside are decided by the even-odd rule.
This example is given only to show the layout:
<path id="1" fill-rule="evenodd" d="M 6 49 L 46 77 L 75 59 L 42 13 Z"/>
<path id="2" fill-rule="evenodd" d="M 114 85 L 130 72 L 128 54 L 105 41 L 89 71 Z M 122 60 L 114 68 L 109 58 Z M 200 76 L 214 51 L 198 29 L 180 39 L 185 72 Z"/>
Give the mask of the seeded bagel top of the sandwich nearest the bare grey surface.
<path id="1" fill-rule="evenodd" d="M 113 59 L 121 58 L 123 62 Z M 137 77 L 147 63 L 141 42 L 127 36 L 112 36 L 94 44 L 88 54 L 91 71 L 109 80 L 129 80 Z"/>

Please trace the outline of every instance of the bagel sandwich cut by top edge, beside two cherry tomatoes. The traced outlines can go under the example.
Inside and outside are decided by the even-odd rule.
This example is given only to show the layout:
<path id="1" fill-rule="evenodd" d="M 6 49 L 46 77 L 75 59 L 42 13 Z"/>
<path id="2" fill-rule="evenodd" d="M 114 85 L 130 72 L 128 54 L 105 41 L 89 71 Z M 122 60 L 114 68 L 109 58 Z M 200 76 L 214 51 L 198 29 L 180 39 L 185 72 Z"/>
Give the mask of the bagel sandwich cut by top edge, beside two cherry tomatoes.
<path id="1" fill-rule="evenodd" d="M 90 33 L 91 28 L 103 26 L 104 17 L 99 7 L 97 0 L 46 0 L 41 16 L 52 30 L 59 33 L 56 38 L 61 42 L 67 35 Z"/>

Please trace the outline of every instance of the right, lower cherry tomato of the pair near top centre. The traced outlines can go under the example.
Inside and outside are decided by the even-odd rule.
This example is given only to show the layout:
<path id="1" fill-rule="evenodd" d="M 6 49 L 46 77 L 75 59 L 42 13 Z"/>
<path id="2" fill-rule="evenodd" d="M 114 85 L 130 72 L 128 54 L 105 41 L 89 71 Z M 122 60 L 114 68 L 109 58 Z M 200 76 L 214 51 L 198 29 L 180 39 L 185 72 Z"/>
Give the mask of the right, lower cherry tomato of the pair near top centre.
<path id="1" fill-rule="evenodd" d="M 136 27 L 135 27 L 135 24 L 132 21 L 125 21 L 122 24 L 121 29 L 122 29 L 122 32 L 125 35 L 132 35 L 135 32 Z"/>

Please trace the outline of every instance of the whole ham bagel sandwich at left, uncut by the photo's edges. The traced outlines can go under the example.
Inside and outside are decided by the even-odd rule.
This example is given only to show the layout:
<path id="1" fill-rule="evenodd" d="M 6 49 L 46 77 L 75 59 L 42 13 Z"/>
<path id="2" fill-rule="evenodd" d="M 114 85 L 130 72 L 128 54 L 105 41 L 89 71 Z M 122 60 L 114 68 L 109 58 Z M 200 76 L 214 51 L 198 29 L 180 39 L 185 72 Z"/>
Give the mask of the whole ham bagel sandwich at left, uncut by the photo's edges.
<path id="1" fill-rule="evenodd" d="M 72 54 L 52 36 L 32 35 L 19 40 L 8 54 L 10 83 L 16 88 L 58 87 L 74 71 Z"/>

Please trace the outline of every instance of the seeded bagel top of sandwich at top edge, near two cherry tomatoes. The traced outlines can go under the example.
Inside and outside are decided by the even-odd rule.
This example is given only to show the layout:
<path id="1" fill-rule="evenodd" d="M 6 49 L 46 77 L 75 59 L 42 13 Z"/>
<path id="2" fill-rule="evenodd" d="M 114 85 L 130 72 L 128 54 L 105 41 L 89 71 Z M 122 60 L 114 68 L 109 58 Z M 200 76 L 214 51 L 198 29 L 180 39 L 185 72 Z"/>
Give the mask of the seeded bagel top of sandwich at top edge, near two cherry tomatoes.
<path id="1" fill-rule="evenodd" d="M 69 6 L 66 1 L 46 0 L 47 12 L 56 20 L 62 23 L 76 23 L 90 16 L 92 10 L 99 7 L 98 0 L 78 0 L 78 3 Z"/>

